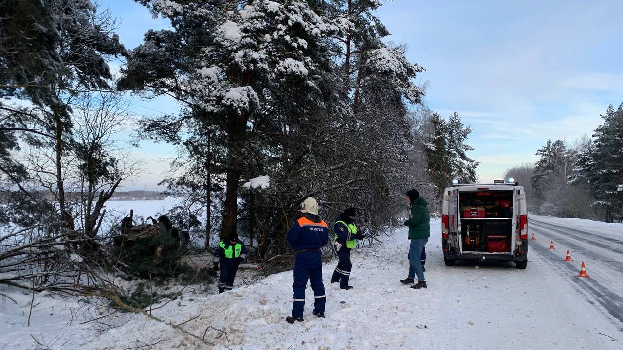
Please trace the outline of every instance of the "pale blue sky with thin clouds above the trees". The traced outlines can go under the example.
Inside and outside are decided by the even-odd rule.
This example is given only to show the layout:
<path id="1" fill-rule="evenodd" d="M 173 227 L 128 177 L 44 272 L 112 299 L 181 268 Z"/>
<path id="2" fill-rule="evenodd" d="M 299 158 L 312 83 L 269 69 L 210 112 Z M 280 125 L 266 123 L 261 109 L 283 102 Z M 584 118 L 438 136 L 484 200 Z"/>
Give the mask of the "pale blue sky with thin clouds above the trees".
<path id="1" fill-rule="evenodd" d="M 130 0 L 102 2 L 124 17 L 118 33 L 132 49 L 150 28 L 168 26 Z M 473 133 L 472 158 L 483 181 L 535 161 L 548 138 L 573 143 L 591 135 L 609 104 L 623 102 L 623 1 L 383 1 L 378 11 L 427 71 L 424 102 L 443 116 L 459 112 Z M 134 100 L 138 113 L 174 112 L 171 100 Z M 150 109 L 146 109 L 150 108 Z M 157 113 L 156 113 L 157 114 Z M 128 187 L 155 188 L 164 144 L 143 143 L 150 173 Z M 158 161 L 161 160 L 161 161 Z"/>

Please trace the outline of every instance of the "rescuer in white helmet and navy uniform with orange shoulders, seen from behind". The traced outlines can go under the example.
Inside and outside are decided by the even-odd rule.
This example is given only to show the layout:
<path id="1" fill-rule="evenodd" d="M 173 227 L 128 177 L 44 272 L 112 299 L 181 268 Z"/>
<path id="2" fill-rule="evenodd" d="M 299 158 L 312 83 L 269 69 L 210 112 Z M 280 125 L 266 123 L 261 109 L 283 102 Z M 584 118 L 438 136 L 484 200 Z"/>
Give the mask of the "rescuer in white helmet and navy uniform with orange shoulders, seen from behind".
<path id="1" fill-rule="evenodd" d="M 325 317 L 325 285 L 322 283 L 322 259 L 320 248 L 329 240 L 329 229 L 326 223 L 318 217 L 318 202 L 312 197 L 305 199 L 301 204 L 303 217 L 297 220 L 288 231 L 288 245 L 295 251 L 294 262 L 294 301 L 292 316 L 285 320 L 288 323 L 303 321 L 305 307 L 305 287 L 310 281 L 315 296 L 313 315 Z"/>

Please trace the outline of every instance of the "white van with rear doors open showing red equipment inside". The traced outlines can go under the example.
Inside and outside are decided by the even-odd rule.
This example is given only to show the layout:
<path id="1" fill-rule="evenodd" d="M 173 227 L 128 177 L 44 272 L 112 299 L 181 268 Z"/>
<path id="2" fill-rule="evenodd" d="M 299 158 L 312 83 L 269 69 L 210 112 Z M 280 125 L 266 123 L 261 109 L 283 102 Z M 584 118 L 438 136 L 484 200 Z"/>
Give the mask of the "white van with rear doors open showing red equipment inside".
<path id="1" fill-rule="evenodd" d="M 444 262 L 513 261 L 528 265 L 528 212 L 523 187 L 496 180 L 493 184 L 456 184 L 444 189 L 442 212 Z"/>

